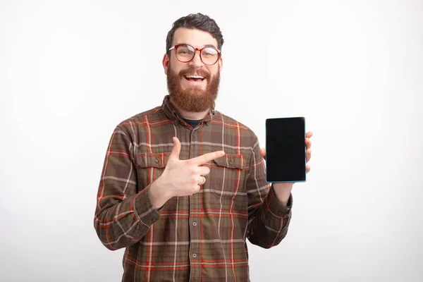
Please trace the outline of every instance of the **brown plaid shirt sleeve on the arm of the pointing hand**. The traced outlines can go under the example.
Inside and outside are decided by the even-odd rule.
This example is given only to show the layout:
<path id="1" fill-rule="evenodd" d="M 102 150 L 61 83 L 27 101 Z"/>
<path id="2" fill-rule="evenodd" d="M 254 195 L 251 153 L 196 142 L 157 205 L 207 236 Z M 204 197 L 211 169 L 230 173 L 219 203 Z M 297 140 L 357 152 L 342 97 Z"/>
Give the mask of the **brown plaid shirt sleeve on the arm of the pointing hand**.
<path id="1" fill-rule="evenodd" d="M 149 200 L 149 187 L 137 187 L 133 143 L 125 128 L 116 127 L 104 159 L 94 216 L 94 228 L 108 249 L 136 243 L 160 218 Z"/>

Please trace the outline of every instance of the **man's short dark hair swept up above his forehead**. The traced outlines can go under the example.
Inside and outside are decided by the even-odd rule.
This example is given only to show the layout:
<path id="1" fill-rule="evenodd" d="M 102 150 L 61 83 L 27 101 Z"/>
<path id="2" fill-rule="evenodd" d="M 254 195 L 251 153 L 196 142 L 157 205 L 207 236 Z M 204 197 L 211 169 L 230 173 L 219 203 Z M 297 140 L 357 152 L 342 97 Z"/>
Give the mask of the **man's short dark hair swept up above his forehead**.
<path id="1" fill-rule="evenodd" d="M 202 13 L 190 13 L 188 16 L 178 18 L 178 20 L 173 23 L 172 29 L 169 30 L 166 37 L 166 54 L 170 56 L 169 48 L 172 47 L 173 35 L 175 30 L 179 27 L 187 27 L 190 29 L 196 28 L 197 30 L 203 30 L 209 32 L 214 39 L 217 41 L 217 49 L 221 50 L 223 45 L 223 35 L 220 31 L 219 25 L 207 15 Z"/>

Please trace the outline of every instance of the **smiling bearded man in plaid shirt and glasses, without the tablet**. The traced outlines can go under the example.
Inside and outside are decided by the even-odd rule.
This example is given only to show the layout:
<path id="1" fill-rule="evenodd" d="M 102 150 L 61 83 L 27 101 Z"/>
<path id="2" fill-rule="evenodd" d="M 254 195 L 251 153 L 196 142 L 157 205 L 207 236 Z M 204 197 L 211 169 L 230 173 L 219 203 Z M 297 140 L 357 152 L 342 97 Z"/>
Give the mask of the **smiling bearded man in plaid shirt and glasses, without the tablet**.
<path id="1" fill-rule="evenodd" d="M 257 136 L 214 110 L 222 44 L 208 16 L 176 20 L 169 95 L 111 137 L 94 226 L 107 248 L 126 248 L 123 281 L 248 281 L 245 240 L 269 248 L 286 235 L 293 183 L 267 184 Z"/>

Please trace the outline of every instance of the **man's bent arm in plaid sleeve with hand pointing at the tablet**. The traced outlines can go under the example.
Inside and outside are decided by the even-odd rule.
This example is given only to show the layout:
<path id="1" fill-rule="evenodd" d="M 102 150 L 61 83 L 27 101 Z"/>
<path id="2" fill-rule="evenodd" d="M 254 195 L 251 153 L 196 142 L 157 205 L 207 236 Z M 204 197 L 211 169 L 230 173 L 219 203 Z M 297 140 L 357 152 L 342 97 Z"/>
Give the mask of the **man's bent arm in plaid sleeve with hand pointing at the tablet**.
<path id="1" fill-rule="evenodd" d="M 192 195 L 200 190 L 210 169 L 201 166 L 222 157 L 217 151 L 189 160 L 179 160 L 180 142 L 175 146 L 163 174 L 145 188 L 137 186 L 133 145 L 124 128 L 114 131 L 100 180 L 94 227 L 110 250 L 128 247 L 141 240 L 160 218 L 160 209 L 174 196 Z"/>

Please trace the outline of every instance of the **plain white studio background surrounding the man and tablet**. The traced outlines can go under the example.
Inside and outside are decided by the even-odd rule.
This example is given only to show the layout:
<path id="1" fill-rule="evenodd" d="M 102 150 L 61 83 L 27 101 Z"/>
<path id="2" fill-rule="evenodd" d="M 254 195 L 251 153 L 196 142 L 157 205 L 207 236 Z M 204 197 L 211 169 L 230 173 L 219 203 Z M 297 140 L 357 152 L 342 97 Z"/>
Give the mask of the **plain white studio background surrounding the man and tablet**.
<path id="1" fill-rule="evenodd" d="M 305 116 L 312 171 L 252 281 L 423 280 L 423 2 L 0 1 L 0 280 L 121 281 L 93 227 L 106 147 L 161 104 L 174 20 L 221 27 L 216 109 Z"/>

